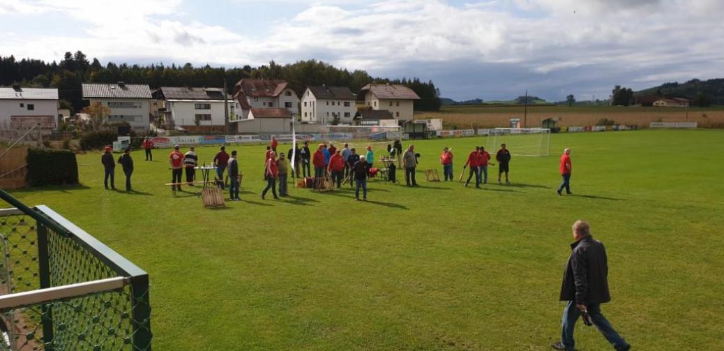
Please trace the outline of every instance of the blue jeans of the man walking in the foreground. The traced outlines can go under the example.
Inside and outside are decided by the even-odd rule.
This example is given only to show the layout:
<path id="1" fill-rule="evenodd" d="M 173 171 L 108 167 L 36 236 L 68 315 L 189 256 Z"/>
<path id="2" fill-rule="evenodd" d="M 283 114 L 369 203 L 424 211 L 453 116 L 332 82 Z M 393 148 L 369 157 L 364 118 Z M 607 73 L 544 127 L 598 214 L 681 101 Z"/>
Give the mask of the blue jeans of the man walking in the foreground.
<path id="1" fill-rule="evenodd" d="M 601 305 L 592 303 L 586 306 L 588 313 L 593 320 L 594 326 L 603 334 L 616 350 L 626 347 L 628 343 L 613 329 L 611 323 L 601 313 Z M 560 342 L 563 343 L 566 350 L 575 350 L 576 342 L 573 340 L 573 330 L 576 329 L 576 321 L 581 316 L 581 310 L 576 307 L 576 301 L 568 301 L 563 310 L 563 331 L 560 336 Z"/>

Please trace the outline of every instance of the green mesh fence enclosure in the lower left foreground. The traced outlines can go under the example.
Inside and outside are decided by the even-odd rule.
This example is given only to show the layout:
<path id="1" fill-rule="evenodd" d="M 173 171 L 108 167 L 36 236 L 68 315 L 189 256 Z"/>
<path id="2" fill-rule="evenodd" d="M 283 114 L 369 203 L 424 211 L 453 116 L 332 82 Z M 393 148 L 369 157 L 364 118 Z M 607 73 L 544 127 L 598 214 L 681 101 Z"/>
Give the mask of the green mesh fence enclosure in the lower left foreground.
<path id="1" fill-rule="evenodd" d="M 118 260 L 117 253 L 87 233 L 72 230 L 77 227 L 63 227 L 62 217 L 45 223 L 33 218 L 38 216 L 1 211 L 0 295 L 119 276 L 125 284 L 111 291 L 0 310 L 4 331 L 0 350 L 151 350 L 146 272 Z"/>

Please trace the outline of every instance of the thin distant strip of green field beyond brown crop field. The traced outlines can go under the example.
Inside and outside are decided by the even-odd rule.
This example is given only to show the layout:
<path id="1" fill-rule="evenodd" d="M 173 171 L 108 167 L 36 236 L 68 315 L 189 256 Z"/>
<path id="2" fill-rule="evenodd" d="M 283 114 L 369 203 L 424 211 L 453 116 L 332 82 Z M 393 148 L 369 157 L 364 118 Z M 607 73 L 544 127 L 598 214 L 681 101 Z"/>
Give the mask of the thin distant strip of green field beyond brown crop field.
<path id="1" fill-rule="evenodd" d="M 496 106 L 496 105 L 465 105 L 465 106 L 442 106 L 440 112 L 455 114 L 485 114 L 485 113 L 523 113 L 524 106 Z M 720 111 L 724 106 L 691 107 L 689 112 L 697 111 Z M 664 108 L 664 107 L 641 107 L 641 106 L 536 106 L 529 105 L 528 111 L 548 113 L 642 113 L 642 112 L 677 112 L 686 109 Z"/>

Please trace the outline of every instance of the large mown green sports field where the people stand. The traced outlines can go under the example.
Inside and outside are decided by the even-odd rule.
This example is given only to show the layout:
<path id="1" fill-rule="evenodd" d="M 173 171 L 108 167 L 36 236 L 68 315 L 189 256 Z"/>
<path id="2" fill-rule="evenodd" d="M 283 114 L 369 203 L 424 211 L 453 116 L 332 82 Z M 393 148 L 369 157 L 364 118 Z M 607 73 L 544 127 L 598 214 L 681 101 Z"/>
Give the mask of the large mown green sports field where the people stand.
<path id="1" fill-rule="evenodd" d="M 153 162 L 133 153 L 137 193 L 104 190 L 89 153 L 78 156 L 82 186 L 12 194 L 151 274 L 154 350 L 549 350 L 579 218 L 605 242 L 603 311 L 635 350 L 723 350 L 723 140 L 722 130 L 552 135 L 553 156 L 513 158 L 513 184 L 484 190 L 422 173 L 448 145 L 457 176 L 484 138 L 417 141 L 421 187 L 373 181 L 367 203 L 293 187 L 261 200 L 262 145 L 229 147 L 245 179 L 227 209 L 203 209 L 198 189 L 172 198 L 167 150 Z M 559 197 L 565 146 L 575 195 Z M 198 151 L 210 162 L 216 148 Z M 609 350 L 578 324 L 579 350 Z"/>

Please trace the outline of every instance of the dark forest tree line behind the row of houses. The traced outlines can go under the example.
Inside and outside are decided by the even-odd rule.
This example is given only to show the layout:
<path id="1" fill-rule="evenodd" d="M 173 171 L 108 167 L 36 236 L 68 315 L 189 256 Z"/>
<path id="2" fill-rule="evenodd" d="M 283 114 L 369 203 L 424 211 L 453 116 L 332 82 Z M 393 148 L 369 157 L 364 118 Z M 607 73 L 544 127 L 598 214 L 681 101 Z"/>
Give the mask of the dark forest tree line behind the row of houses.
<path id="1" fill-rule="evenodd" d="M 424 82 L 417 77 L 390 80 L 371 77 L 361 69 L 349 71 L 314 59 L 293 64 L 277 64 L 274 61 L 259 67 L 194 67 L 187 63 L 182 66 L 171 64 L 116 64 L 105 66 L 81 51 L 66 52 L 60 62 L 44 62 L 38 59 L 20 59 L 14 56 L 0 56 L 0 85 L 20 84 L 24 87 L 58 88 L 63 107 L 80 111 L 85 106 L 82 83 L 148 84 L 152 89 L 172 87 L 214 87 L 227 85 L 233 92 L 235 83 L 243 78 L 282 79 L 297 93 L 303 93 L 307 85 L 346 86 L 354 92 L 369 83 L 403 84 L 411 88 L 421 100 L 415 101 L 418 111 L 437 111 L 440 108 L 439 90 L 432 80 Z"/>

